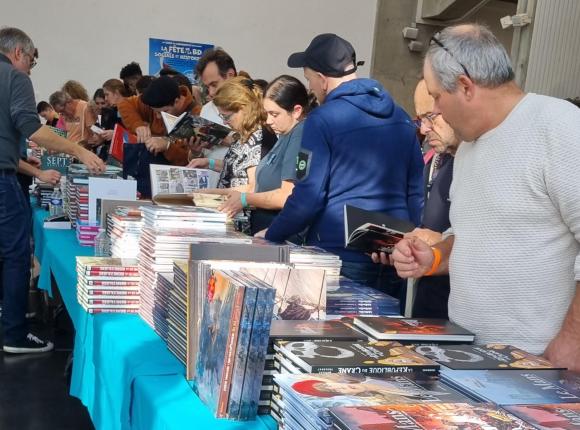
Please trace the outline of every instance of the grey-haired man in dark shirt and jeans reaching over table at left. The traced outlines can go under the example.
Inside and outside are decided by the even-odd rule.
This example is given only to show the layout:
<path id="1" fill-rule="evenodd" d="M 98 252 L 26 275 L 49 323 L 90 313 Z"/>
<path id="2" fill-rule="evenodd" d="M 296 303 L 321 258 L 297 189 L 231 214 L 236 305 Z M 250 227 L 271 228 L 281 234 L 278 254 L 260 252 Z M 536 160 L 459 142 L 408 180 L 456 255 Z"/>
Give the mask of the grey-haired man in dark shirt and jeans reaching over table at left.
<path id="1" fill-rule="evenodd" d="M 50 351 L 53 344 L 29 332 L 26 321 L 30 274 L 31 216 L 16 179 L 20 142 L 30 139 L 46 148 L 71 154 L 91 171 L 104 170 L 92 152 L 57 136 L 40 123 L 30 69 L 35 48 L 22 30 L 0 29 L 0 259 L 3 261 L 4 352 Z"/>

